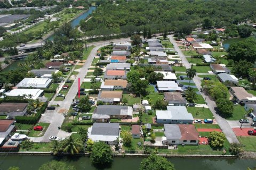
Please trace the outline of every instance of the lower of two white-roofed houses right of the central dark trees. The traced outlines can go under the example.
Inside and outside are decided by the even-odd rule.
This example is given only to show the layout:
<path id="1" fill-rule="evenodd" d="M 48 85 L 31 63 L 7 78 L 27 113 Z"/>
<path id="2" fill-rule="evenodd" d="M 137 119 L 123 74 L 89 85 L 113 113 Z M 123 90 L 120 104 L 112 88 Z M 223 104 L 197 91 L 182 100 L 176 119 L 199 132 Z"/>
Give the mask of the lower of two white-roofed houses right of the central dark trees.
<path id="1" fill-rule="evenodd" d="M 175 81 L 156 81 L 158 91 L 182 91 Z"/>

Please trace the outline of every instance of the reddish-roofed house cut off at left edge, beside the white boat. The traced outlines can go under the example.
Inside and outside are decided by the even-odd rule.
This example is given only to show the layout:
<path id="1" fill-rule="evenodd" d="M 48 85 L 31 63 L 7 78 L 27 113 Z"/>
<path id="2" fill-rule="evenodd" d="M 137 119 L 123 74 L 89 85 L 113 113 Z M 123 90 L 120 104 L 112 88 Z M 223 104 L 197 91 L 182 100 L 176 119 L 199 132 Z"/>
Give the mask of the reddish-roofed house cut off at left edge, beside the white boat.
<path id="1" fill-rule="evenodd" d="M 12 120 L 0 120 L 0 146 L 3 146 L 10 138 L 15 128 L 14 122 Z"/>

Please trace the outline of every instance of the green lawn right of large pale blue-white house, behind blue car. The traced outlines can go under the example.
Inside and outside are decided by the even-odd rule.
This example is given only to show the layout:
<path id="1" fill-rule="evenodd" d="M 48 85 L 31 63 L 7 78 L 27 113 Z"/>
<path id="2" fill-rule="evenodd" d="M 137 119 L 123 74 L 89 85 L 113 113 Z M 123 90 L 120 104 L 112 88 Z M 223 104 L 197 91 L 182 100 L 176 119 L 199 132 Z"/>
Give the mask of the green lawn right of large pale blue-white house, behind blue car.
<path id="1" fill-rule="evenodd" d="M 213 114 L 209 108 L 202 107 L 188 107 L 188 113 L 191 113 L 194 118 L 213 118 Z"/>

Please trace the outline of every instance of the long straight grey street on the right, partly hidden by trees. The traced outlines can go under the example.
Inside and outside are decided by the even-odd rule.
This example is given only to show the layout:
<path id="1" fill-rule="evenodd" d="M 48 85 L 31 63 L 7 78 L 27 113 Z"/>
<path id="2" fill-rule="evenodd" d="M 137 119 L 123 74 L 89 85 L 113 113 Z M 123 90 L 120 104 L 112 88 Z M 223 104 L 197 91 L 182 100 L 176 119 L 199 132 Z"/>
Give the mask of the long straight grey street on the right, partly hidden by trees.
<path id="1" fill-rule="evenodd" d="M 182 58 L 182 63 L 183 65 L 185 65 L 185 67 L 187 69 L 189 69 L 191 67 L 191 65 L 189 64 L 189 62 L 187 61 L 187 58 L 185 57 L 185 55 L 183 55 L 183 53 L 181 52 L 178 44 L 175 42 L 175 40 L 173 39 L 173 35 L 169 35 L 167 36 L 170 38 L 171 43 L 174 46 L 174 49 L 178 52 L 180 58 Z M 193 79 L 193 81 L 195 82 L 196 86 L 198 89 L 201 89 L 201 79 L 199 77 L 195 77 Z M 213 113 L 215 120 L 217 121 L 217 123 L 219 124 L 221 130 L 226 134 L 227 140 L 229 141 L 229 143 L 239 143 L 239 141 L 236 138 L 235 133 L 233 132 L 233 130 L 231 129 L 230 125 L 228 124 L 228 122 L 225 120 L 225 118 L 222 118 L 221 116 L 219 116 L 216 112 L 215 112 L 215 107 L 216 107 L 216 103 L 215 101 L 213 101 L 212 99 L 209 98 L 209 96 L 205 96 L 204 94 L 202 94 L 203 98 L 206 98 L 206 103 L 210 109 L 210 111 Z"/>

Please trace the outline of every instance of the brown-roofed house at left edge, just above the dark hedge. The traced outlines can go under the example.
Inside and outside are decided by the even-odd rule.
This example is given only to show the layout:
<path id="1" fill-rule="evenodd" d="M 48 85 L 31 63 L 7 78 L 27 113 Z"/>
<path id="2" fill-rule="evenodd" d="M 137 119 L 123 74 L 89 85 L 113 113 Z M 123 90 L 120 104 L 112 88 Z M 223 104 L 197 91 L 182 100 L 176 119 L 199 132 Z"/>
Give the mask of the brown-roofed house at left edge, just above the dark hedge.
<path id="1" fill-rule="evenodd" d="M 9 116 L 9 118 L 15 118 L 15 116 L 27 115 L 28 103 L 1 103 L 0 115 Z"/>

